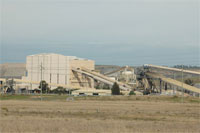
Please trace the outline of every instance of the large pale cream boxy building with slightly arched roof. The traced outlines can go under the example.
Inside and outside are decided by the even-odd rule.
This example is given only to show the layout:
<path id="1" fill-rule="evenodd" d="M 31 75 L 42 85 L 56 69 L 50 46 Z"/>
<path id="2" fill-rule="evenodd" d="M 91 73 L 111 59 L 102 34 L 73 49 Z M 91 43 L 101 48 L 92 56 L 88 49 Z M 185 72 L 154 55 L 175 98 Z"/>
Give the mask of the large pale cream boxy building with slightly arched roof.
<path id="1" fill-rule="evenodd" d="M 94 70 L 95 62 L 75 56 L 64 56 L 54 53 L 30 55 L 26 58 L 26 76 L 23 77 L 23 80 L 36 82 L 45 80 L 49 84 L 94 88 L 93 79 L 74 73 L 72 68 Z M 37 87 L 38 85 L 31 85 L 30 89 Z M 56 87 L 50 85 L 50 88 L 54 89 Z"/>

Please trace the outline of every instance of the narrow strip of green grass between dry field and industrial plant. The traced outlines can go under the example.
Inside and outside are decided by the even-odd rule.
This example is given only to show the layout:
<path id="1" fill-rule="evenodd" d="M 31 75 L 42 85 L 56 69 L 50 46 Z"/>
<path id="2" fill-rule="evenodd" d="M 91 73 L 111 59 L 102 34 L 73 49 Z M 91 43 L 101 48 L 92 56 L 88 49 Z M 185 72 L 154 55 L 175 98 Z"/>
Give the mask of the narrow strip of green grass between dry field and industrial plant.
<path id="1" fill-rule="evenodd" d="M 44 94 L 42 95 L 43 101 L 66 101 L 70 95 L 57 95 L 57 94 Z M 180 96 L 79 96 L 73 97 L 75 101 L 79 100 L 96 100 L 96 101 L 166 101 L 173 103 L 181 103 L 182 97 Z M 23 100 L 23 101 L 40 101 L 41 95 L 0 95 L 0 100 Z M 184 97 L 184 103 L 200 103 L 198 97 Z"/>

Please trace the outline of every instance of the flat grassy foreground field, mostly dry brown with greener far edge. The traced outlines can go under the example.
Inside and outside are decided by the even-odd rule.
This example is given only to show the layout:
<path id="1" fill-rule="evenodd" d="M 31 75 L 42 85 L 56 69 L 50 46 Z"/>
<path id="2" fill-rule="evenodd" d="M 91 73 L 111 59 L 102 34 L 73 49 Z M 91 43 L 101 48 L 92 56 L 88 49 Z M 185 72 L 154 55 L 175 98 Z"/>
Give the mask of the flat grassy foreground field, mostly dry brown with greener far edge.
<path id="1" fill-rule="evenodd" d="M 1 132 L 200 132 L 200 99 L 1 96 Z"/>

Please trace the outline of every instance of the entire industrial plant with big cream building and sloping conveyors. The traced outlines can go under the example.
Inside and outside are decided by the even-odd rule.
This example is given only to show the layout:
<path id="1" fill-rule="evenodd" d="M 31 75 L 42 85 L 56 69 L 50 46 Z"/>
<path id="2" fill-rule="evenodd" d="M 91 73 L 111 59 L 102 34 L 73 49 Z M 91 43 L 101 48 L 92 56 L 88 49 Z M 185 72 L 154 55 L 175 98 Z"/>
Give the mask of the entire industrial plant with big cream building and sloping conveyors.
<path id="1" fill-rule="evenodd" d="M 160 74 L 159 70 L 181 73 L 182 82 Z M 173 95 L 176 91 L 181 91 L 182 95 L 200 94 L 199 88 L 183 82 L 183 73 L 199 76 L 200 72 L 150 64 L 145 64 L 136 71 L 133 67 L 125 66 L 100 73 L 95 70 L 93 60 L 42 53 L 26 57 L 25 76 L 21 79 L 0 79 L 0 87 L 3 88 L 3 93 L 9 92 L 8 89 L 12 88 L 15 88 L 15 91 L 24 89 L 32 93 L 35 90 L 40 91 L 40 82 L 45 81 L 50 90 L 63 87 L 66 90 L 73 90 L 74 95 L 111 95 L 110 89 L 116 82 L 123 94 L 129 94 L 131 90 L 144 95 L 164 92 L 168 94 L 168 88 L 173 90 L 173 93 L 170 92 Z"/>

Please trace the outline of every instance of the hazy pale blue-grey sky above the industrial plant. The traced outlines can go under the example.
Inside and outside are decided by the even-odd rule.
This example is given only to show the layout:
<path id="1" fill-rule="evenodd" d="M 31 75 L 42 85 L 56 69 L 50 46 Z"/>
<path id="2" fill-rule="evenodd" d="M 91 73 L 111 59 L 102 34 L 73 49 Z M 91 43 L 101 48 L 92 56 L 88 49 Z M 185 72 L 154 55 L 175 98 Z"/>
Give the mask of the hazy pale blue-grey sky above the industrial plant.
<path id="1" fill-rule="evenodd" d="M 200 65 L 199 0 L 0 1 L 0 63 L 57 53 L 104 65 Z"/>

